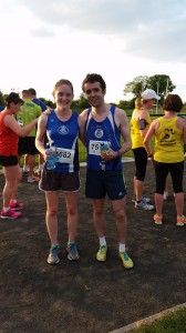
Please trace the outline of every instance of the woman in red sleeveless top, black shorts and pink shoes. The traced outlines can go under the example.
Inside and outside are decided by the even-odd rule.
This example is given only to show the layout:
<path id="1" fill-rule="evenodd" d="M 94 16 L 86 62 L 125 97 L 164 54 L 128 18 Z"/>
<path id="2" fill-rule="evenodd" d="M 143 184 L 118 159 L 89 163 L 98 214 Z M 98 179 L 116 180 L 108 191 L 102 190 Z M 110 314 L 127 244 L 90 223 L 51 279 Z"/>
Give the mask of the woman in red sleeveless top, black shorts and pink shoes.
<path id="1" fill-rule="evenodd" d="M 18 138 L 25 137 L 35 127 L 38 119 L 31 121 L 25 128 L 21 128 L 12 115 L 19 112 L 22 104 L 23 101 L 19 94 L 11 92 L 7 97 L 6 109 L 0 113 L 0 164 L 3 167 L 6 178 L 2 192 L 2 219 L 21 216 L 17 210 L 24 206 L 23 203 L 17 201 L 18 184 L 21 179 L 18 164 Z"/>

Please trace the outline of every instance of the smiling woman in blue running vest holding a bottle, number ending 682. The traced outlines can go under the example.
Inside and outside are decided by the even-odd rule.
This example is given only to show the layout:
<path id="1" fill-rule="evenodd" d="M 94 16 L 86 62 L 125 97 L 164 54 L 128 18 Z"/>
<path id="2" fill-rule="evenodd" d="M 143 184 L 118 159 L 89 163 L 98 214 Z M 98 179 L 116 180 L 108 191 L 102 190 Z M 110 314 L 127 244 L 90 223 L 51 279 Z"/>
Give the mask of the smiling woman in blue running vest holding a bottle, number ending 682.
<path id="1" fill-rule="evenodd" d="M 56 108 L 50 114 L 42 114 L 40 117 L 35 139 L 35 145 L 45 160 L 39 188 L 45 192 L 46 200 L 46 228 L 51 241 L 51 249 L 48 256 L 49 264 L 58 264 L 60 262 L 58 239 L 60 190 L 64 192 L 66 203 L 69 231 L 68 259 L 79 259 L 75 244 L 79 224 L 78 196 L 80 190 L 78 137 L 83 125 L 83 121 L 79 114 L 71 110 L 73 85 L 69 80 L 62 79 L 55 83 L 53 97 Z M 52 143 L 54 147 L 55 157 L 58 157 L 58 162 L 53 170 L 48 169 L 48 161 L 51 160 L 52 151 L 44 147 L 43 139 L 45 133 L 49 143 Z"/>

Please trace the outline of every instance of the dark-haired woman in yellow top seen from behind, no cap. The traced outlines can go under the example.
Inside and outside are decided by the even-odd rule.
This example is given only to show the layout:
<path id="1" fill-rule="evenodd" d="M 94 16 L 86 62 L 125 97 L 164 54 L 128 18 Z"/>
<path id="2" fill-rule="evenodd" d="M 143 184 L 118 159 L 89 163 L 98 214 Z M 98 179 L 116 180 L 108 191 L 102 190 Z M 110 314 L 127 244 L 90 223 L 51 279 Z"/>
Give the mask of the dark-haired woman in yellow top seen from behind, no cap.
<path id="1" fill-rule="evenodd" d="M 144 139 L 145 149 L 155 167 L 156 191 L 154 215 L 155 224 L 162 224 L 162 211 L 164 202 L 164 189 L 167 174 L 170 173 L 175 193 L 177 212 L 176 224 L 183 226 L 186 223 L 184 211 L 184 144 L 186 143 L 186 120 L 177 117 L 183 108 L 183 101 L 178 94 L 168 94 L 164 101 L 164 115 L 155 119 Z M 154 154 L 151 151 L 151 139 L 155 137 Z"/>

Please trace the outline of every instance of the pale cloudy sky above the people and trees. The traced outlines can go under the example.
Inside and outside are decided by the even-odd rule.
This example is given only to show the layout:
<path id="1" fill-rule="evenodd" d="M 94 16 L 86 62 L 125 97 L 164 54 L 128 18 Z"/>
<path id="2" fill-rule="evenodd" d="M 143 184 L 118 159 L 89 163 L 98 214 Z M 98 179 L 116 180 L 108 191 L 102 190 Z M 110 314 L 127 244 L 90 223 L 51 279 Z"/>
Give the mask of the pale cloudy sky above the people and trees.
<path id="1" fill-rule="evenodd" d="M 186 102 L 186 0 L 0 0 L 0 90 L 52 99 L 60 79 L 82 93 L 87 73 L 106 102 L 138 75 L 169 75 Z"/>

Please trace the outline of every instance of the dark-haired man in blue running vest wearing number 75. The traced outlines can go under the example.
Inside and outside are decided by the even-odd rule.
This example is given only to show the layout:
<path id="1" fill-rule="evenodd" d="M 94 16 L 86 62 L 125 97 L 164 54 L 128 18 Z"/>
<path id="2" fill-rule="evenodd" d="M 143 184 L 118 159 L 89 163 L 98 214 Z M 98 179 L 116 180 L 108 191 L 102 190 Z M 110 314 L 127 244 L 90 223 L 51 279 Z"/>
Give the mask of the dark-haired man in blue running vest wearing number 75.
<path id="1" fill-rule="evenodd" d="M 100 240 L 96 259 L 99 261 L 106 260 L 104 206 L 107 194 L 112 202 L 118 234 L 118 256 L 124 268 L 132 269 L 133 261 L 125 249 L 127 230 L 126 189 L 122 170 L 122 154 L 132 147 L 127 117 L 124 110 L 105 103 L 106 84 L 100 74 L 87 74 L 83 80 L 82 90 L 91 104 L 91 108 L 84 110 L 81 117 L 86 122 L 85 195 L 92 199 L 94 225 Z M 121 137 L 124 139 L 123 144 L 121 144 Z"/>

